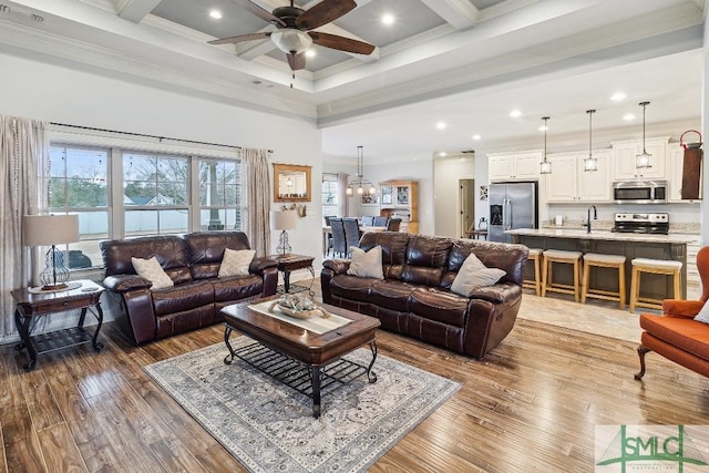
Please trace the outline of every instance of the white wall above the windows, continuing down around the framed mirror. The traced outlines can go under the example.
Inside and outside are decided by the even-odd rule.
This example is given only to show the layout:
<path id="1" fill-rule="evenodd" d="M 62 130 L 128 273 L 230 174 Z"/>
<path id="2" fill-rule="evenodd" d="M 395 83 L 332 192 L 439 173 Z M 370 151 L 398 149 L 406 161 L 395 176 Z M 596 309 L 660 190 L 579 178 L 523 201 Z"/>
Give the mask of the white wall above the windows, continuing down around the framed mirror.
<path id="1" fill-rule="evenodd" d="M 320 132 L 302 119 L 203 99 L 0 54 L 0 114 L 274 151 L 271 162 L 312 166 L 308 216 L 289 232 L 294 251 L 321 255 Z M 273 172 L 273 169 L 271 169 Z M 273 186 L 273 183 L 271 183 Z M 270 191 L 273 199 L 273 191 Z M 279 208 L 273 205 L 274 209 Z M 278 232 L 271 233 L 275 251 Z"/>

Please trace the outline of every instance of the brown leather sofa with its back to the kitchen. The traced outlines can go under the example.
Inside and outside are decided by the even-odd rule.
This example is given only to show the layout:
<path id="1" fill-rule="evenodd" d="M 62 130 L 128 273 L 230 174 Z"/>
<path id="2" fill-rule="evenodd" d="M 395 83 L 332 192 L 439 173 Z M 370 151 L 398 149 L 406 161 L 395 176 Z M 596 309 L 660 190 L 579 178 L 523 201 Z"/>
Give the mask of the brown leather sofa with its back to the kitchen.
<path id="1" fill-rule="evenodd" d="M 377 317 L 382 328 L 482 359 L 512 330 L 522 302 L 528 249 L 523 245 L 370 232 L 359 247 L 381 245 L 384 279 L 347 275 L 350 261 L 323 261 L 322 300 Z M 506 275 L 470 297 L 450 290 L 474 253 Z"/>

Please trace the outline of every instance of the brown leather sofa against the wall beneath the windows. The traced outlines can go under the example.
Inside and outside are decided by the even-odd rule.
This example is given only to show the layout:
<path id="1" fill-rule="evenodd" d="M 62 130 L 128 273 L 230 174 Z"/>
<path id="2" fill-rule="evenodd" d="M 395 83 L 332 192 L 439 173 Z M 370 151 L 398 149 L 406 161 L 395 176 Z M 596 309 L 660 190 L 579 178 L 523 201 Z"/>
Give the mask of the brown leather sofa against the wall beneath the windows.
<path id="1" fill-rule="evenodd" d="M 278 264 L 254 258 L 248 276 L 218 278 L 225 248 L 250 249 L 243 232 L 203 232 L 101 243 L 103 285 L 119 302 L 116 320 L 135 345 L 172 337 L 222 320 L 229 304 L 276 294 Z M 151 290 L 131 257 L 152 258 L 175 284 Z"/>

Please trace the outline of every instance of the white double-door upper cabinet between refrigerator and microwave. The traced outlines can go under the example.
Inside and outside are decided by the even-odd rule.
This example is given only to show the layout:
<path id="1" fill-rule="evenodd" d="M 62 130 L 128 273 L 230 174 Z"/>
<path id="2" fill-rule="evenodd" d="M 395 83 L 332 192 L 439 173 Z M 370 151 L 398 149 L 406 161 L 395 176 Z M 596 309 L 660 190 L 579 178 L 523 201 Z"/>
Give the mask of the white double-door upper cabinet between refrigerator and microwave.
<path id="1" fill-rule="evenodd" d="M 610 151 L 596 151 L 597 171 L 584 171 L 588 152 L 547 155 L 552 174 L 545 174 L 548 203 L 604 203 L 612 200 Z"/>

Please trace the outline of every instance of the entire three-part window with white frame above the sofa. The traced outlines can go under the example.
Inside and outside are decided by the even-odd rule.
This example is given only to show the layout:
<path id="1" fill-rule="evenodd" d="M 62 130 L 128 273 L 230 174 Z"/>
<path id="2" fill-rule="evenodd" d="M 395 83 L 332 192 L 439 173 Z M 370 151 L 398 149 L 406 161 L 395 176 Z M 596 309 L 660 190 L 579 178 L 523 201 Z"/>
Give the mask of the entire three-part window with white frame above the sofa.
<path id="1" fill-rule="evenodd" d="M 243 228 L 242 162 L 233 148 L 54 135 L 49 206 L 79 215 L 80 241 L 62 248 L 72 270 L 101 267 L 104 239 Z M 138 146 L 148 151 L 132 150 Z"/>

